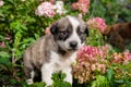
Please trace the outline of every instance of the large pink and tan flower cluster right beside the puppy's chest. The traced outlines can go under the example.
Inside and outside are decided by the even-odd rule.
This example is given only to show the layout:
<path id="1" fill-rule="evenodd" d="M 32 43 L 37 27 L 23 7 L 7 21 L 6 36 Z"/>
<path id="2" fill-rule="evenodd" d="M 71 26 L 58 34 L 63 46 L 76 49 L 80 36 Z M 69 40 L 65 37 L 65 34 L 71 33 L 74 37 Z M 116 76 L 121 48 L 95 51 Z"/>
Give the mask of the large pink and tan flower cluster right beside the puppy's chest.
<path id="1" fill-rule="evenodd" d="M 108 48 L 84 46 L 78 51 L 76 64 L 73 65 L 73 75 L 79 83 L 91 82 L 95 78 L 95 73 L 105 73 L 105 58 Z"/>

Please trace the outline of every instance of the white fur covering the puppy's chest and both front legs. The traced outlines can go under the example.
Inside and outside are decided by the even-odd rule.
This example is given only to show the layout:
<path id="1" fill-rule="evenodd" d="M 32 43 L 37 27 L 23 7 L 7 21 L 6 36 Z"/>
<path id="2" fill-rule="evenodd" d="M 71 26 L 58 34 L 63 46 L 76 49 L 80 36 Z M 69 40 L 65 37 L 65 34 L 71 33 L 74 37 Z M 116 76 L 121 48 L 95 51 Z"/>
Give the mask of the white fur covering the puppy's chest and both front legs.
<path id="1" fill-rule="evenodd" d="M 41 66 L 41 79 L 46 82 L 47 86 L 52 84 L 51 74 L 57 71 L 62 71 L 67 74 L 64 80 L 72 84 L 71 64 L 75 61 L 76 52 L 72 53 L 69 58 L 59 55 L 51 51 L 50 62 Z"/>

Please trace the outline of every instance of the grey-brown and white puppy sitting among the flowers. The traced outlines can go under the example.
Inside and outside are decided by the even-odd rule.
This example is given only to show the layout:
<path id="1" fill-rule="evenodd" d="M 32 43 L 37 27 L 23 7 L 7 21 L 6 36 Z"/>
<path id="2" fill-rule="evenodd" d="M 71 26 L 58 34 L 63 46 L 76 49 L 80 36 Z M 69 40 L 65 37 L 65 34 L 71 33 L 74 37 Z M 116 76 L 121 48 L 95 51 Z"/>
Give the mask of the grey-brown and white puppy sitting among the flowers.
<path id="1" fill-rule="evenodd" d="M 51 74 L 57 71 L 66 73 L 64 80 L 72 84 L 71 64 L 88 36 L 87 26 L 82 20 L 68 15 L 52 24 L 50 33 L 25 50 L 23 61 L 27 84 L 33 84 L 36 70 L 41 72 L 41 80 L 47 86 L 52 84 Z"/>

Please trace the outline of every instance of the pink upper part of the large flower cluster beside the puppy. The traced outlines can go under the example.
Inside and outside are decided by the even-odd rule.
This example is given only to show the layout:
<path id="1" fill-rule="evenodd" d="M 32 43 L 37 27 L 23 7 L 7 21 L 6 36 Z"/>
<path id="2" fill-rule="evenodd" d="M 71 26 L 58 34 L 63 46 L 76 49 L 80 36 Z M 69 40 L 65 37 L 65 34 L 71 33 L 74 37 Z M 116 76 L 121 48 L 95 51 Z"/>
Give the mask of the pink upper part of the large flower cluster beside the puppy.
<path id="1" fill-rule="evenodd" d="M 105 50 L 105 48 L 104 49 L 103 48 L 92 47 L 92 46 L 82 47 L 82 49 L 78 51 L 78 62 L 80 64 L 83 62 L 94 63 L 92 65 L 92 70 L 95 70 L 94 69 L 95 63 L 97 63 L 98 60 L 105 61 L 105 58 L 107 55 L 107 49 Z"/>

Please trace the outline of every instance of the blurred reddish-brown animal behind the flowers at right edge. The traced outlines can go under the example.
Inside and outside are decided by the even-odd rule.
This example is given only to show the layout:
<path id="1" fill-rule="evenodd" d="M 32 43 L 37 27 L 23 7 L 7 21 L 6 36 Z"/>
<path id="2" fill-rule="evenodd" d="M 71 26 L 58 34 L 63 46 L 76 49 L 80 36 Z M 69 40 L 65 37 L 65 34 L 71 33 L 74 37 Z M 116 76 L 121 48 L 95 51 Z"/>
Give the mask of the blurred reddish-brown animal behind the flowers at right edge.
<path id="1" fill-rule="evenodd" d="M 123 51 L 126 49 L 126 45 L 131 44 L 131 22 L 108 26 L 102 34 L 104 37 L 107 37 L 106 41 Z"/>

